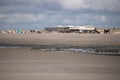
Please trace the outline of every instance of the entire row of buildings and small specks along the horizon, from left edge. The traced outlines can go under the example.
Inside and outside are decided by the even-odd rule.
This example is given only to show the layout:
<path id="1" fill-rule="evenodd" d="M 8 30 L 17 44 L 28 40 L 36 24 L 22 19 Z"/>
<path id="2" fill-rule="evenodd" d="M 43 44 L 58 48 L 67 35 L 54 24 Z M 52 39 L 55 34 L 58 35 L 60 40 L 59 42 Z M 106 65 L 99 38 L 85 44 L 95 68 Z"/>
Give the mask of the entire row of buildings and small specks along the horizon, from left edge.
<path id="1" fill-rule="evenodd" d="M 56 26 L 46 27 L 44 30 L 1 30 L 0 33 L 42 33 L 42 32 L 59 32 L 59 33 L 111 33 L 110 29 L 96 28 L 91 25 L 87 26 Z"/>

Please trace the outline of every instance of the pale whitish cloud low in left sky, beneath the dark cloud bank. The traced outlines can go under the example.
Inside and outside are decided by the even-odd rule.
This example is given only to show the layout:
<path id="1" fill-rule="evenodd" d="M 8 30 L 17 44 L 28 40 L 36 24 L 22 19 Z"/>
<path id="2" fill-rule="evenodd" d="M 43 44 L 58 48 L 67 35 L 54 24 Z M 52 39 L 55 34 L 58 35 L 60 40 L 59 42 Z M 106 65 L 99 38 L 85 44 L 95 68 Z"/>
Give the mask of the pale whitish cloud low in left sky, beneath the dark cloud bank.
<path id="1" fill-rule="evenodd" d="M 30 23 L 44 19 L 44 14 L 7 14 L 7 23 Z"/>

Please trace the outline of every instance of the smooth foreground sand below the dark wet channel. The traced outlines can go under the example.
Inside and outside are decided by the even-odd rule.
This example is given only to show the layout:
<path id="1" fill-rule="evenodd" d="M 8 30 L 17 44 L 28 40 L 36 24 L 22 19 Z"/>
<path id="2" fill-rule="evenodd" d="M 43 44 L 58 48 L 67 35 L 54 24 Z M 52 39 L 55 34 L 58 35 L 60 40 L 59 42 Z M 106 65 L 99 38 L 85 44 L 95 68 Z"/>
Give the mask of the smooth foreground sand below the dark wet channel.
<path id="1" fill-rule="evenodd" d="M 0 80 L 120 80 L 120 56 L 1 48 Z"/>

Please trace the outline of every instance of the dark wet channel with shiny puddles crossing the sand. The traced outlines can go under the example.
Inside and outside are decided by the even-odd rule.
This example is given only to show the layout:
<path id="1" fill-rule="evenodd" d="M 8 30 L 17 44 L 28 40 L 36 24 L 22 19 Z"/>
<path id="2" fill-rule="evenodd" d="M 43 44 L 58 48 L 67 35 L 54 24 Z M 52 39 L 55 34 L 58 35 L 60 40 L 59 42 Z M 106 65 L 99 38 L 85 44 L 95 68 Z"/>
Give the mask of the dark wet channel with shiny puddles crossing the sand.
<path id="1" fill-rule="evenodd" d="M 69 45 L 0 45 L 0 48 L 31 48 L 42 51 L 69 51 L 92 54 L 119 54 L 120 46 L 69 46 Z"/>

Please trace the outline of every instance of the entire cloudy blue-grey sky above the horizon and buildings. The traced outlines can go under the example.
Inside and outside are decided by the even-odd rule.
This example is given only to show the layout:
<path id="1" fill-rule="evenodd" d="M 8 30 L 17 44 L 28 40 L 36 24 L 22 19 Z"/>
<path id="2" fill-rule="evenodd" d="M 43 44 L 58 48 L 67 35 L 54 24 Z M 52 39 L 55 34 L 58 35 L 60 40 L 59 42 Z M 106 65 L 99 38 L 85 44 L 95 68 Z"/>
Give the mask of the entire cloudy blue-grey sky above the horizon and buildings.
<path id="1" fill-rule="evenodd" d="M 120 0 L 0 0 L 0 29 L 120 27 Z"/>

